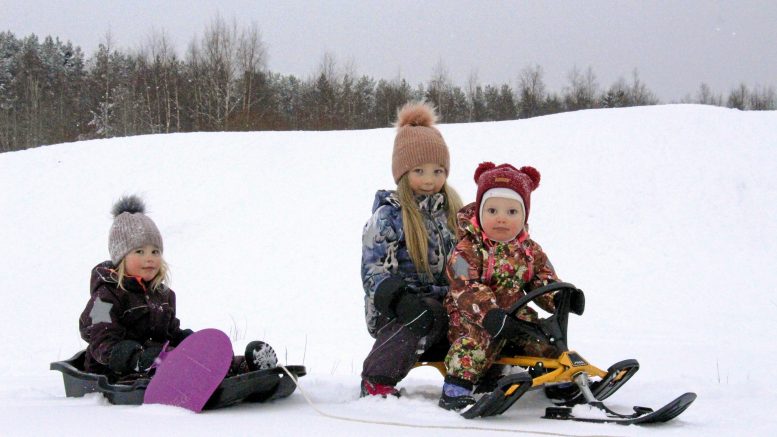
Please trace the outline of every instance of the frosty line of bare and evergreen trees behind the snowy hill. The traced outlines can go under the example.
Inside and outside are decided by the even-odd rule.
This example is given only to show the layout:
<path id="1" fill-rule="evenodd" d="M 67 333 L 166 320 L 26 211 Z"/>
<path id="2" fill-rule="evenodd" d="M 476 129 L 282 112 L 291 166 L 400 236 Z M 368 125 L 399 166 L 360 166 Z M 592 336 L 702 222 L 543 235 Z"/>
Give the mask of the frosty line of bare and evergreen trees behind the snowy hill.
<path id="1" fill-rule="evenodd" d="M 256 25 L 216 17 L 179 58 L 163 33 L 132 52 L 106 35 L 92 56 L 47 36 L 0 32 L 0 152 L 117 136 L 249 130 L 344 130 L 389 126 L 411 100 L 438 108 L 442 122 L 530 118 L 565 111 L 660 103 L 636 70 L 602 87 L 589 67 L 573 68 L 560 92 L 549 91 L 541 66 L 519 72 L 515 86 L 454 84 L 445 65 L 427 83 L 374 79 L 324 54 L 316 72 L 298 78 L 267 68 Z M 777 109 L 772 87 L 741 84 L 716 94 L 702 83 L 682 102 L 742 110 Z"/>

